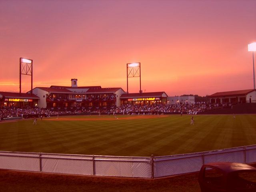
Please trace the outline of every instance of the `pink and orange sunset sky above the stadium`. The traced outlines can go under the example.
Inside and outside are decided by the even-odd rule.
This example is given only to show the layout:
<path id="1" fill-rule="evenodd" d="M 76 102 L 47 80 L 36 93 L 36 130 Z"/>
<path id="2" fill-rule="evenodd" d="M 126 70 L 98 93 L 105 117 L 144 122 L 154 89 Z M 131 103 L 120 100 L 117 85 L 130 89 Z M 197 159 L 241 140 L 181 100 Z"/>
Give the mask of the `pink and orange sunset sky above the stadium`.
<path id="1" fill-rule="evenodd" d="M 126 64 L 140 62 L 143 92 L 251 89 L 252 42 L 256 0 L 0 0 L 0 91 L 19 92 L 20 57 L 33 60 L 33 87 L 77 78 L 126 91 Z"/>

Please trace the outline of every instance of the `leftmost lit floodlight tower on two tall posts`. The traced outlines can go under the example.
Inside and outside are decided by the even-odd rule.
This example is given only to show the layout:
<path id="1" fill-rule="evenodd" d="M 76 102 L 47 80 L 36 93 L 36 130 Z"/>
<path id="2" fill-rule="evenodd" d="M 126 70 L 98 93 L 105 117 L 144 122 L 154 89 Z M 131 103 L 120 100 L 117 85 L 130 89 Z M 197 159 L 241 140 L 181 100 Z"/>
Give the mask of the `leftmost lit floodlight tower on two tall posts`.
<path id="1" fill-rule="evenodd" d="M 33 92 L 33 60 L 20 58 L 20 93 L 21 93 L 21 75 L 31 76 L 31 95 Z"/>

